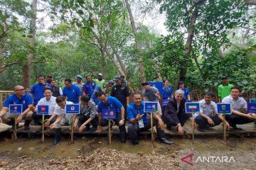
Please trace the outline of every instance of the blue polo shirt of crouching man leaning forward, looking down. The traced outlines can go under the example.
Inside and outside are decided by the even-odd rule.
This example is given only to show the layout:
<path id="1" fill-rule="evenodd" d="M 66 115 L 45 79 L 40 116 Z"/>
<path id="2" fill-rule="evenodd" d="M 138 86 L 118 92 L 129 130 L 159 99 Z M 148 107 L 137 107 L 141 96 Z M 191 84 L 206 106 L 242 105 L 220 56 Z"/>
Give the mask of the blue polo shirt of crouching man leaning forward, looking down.
<path id="1" fill-rule="evenodd" d="M 122 103 L 115 97 L 107 96 L 107 103 L 98 103 L 98 113 L 102 113 L 102 109 L 115 109 L 117 114 L 120 114 Z"/>

